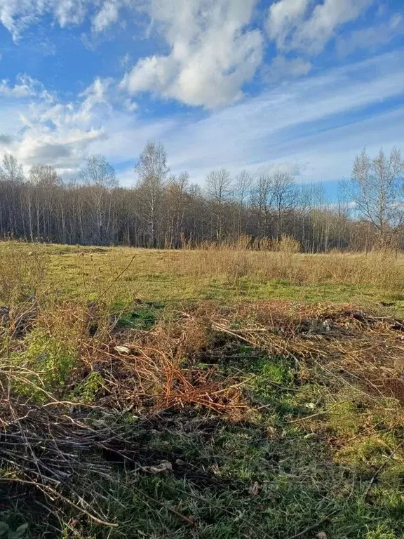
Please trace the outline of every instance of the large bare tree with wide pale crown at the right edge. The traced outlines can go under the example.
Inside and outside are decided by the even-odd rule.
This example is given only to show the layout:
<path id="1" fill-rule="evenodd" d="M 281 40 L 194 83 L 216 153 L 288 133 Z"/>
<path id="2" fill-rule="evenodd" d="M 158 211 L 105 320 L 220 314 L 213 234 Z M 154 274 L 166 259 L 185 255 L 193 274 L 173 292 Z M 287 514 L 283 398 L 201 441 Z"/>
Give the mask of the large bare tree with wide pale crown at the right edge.
<path id="1" fill-rule="evenodd" d="M 371 159 L 363 149 L 354 161 L 346 192 L 360 215 L 377 229 L 382 244 L 389 243 L 404 225 L 404 160 L 393 148 Z"/>

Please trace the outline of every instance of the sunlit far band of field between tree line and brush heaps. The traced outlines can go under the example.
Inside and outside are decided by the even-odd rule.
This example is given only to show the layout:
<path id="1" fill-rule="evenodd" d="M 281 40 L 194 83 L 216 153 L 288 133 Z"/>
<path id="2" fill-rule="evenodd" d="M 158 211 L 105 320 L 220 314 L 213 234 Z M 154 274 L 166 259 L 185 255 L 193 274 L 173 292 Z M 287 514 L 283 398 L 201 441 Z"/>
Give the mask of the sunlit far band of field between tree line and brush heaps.
<path id="1" fill-rule="evenodd" d="M 36 253 L 37 249 L 41 251 L 41 258 L 48 258 L 50 262 L 46 277 L 41 279 L 41 291 L 66 299 L 97 300 L 103 295 L 110 304 L 130 304 L 136 298 L 226 302 L 242 298 L 312 298 L 313 301 L 343 302 L 365 294 L 378 301 L 404 300 L 403 255 L 386 251 L 368 255 L 337 252 L 308 255 L 295 252 L 285 241 L 278 251 L 250 251 L 235 246 L 153 251 L 0 244 L 0 253 L 4 253 L 0 278 L 7 283 L 3 294 L 5 303 L 13 288 L 9 283 L 23 281 L 18 274 L 26 274 L 16 261 L 12 265 L 17 267 L 17 272 L 11 270 L 6 262 L 9 260 L 7 251 L 28 260 L 32 257 L 28 253 Z M 114 283 L 121 272 L 123 275 Z M 105 294 L 105 288 L 112 283 Z"/>

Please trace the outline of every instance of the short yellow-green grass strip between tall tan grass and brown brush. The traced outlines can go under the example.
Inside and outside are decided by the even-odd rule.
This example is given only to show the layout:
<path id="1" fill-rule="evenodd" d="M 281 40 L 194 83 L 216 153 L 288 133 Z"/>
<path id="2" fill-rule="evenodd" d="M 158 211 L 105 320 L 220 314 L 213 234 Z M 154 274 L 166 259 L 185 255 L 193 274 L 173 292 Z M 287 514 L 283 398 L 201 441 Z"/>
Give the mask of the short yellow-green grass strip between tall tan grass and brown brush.
<path id="1" fill-rule="evenodd" d="M 184 300 L 213 300 L 231 303 L 254 300 L 296 300 L 349 302 L 370 305 L 394 302 L 404 309 L 404 295 L 393 293 L 372 284 L 314 283 L 291 284 L 287 279 L 257 279 L 241 277 L 232 281 L 227 277 L 198 277 L 176 274 L 166 270 L 166 260 L 175 260 L 173 251 L 147 251 L 128 248 L 74 248 L 48 246 L 50 271 L 48 286 L 67 298 L 95 299 L 130 258 L 134 260 L 119 280 L 119 300 L 133 298 L 157 302 Z M 151 268 L 153 268 L 152 271 Z"/>

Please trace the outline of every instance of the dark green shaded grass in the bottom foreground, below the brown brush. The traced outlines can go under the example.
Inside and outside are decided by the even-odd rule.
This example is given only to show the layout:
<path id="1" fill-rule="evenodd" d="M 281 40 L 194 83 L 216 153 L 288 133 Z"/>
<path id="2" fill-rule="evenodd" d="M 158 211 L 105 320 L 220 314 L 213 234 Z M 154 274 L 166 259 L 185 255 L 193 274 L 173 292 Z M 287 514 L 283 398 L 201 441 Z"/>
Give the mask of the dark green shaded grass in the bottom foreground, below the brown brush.
<path id="1" fill-rule="evenodd" d="M 114 494 L 105 510 L 121 524 L 113 530 L 90 526 L 86 533 L 110 539 L 283 539 L 314 526 L 302 536 L 325 531 L 333 539 L 402 537 L 403 465 L 389 464 L 365 498 L 388 446 L 362 440 L 343 458 L 322 430 L 290 423 L 312 413 L 307 405 L 313 400 L 321 407 L 324 400 L 318 403 L 318 397 L 327 399 L 330 387 L 302 386 L 282 357 L 248 347 L 236 352 L 237 361 L 224 358 L 222 369 L 248 375 L 246 387 L 259 413 L 249 422 L 234 423 L 214 414 L 172 412 L 140 427 L 140 454 L 151 462 L 168 459 L 173 472 L 150 476 L 117 470 L 114 481 L 102 488 Z M 341 405 L 338 412 L 351 418 L 355 407 Z M 357 432 L 351 422 L 335 425 L 327 417 L 321 427 L 350 436 Z M 175 512 L 195 524 L 189 526 Z"/>

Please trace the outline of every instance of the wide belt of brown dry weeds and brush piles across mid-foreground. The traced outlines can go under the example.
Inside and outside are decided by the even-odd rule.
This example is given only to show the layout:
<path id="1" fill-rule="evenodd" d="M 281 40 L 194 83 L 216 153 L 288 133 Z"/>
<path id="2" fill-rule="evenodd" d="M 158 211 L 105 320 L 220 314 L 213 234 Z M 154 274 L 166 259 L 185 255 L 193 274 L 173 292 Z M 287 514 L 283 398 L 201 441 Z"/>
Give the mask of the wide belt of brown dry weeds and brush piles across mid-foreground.
<path id="1" fill-rule="evenodd" d="M 74 522 L 84 525 L 86 520 L 109 529 L 120 525 L 103 509 L 108 493 L 100 484 L 114 481 L 105 455 L 142 473 L 147 448 L 140 448 L 136 439 L 139 425 L 114 425 L 117 411 L 130 411 L 147 422 L 169 409 L 208 410 L 236 425 L 260 425 L 262 414 L 269 411 L 264 437 L 282 439 L 288 425 L 299 425 L 302 434 L 314 432 L 328 440 L 336 465 L 351 466 L 356 473 L 362 467 L 364 477 L 370 470 L 372 482 L 388 468 L 386 477 L 393 477 L 399 488 L 397 473 L 404 466 L 399 436 L 404 427 L 403 320 L 362 312 L 353 305 L 274 301 L 220 307 L 201 302 L 171 312 L 151 330 L 112 326 L 105 338 L 103 327 L 101 333 L 88 333 L 103 316 L 93 305 L 85 313 L 72 302 L 46 312 L 39 302 L 38 309 L 34 331 L 8 342 L 0 368 L 0 481 L 7 488 L 24 488 L 28 500 L 34 496 L 32 489 L 39 491 L 55 528 L 60 526 L 56 517 L 69 533 L 77 531 Z M 55 347 L 61 342 L 62 347 Z M 243 351 L 245 345 L 248 352 Z M 74 363 L 64 371 L 69 354 Z M 269 360 L 272 371 L 265 370 L 261 379 L 254 374 L 253 361 L 265 358 L 278 359 Z M 282 361 L 290 361 L 289 373 Z M 62 378 L 49 375 L 52 368 L 55 375 L 63 373 L 62 387 Z M 279 418 L 271 418 L 278 406 L 273 400 L 276 392 L 287 389 L 295 392 L 295 401 L 311 404 L 311 396 L 309 401 L 302 396 L 312 385 L 323 388 L 321 402 L 297 415 L 287 413 L 283 434 L 276 432 Z M 254 394 L 271 400 L 257 407 Z M 390 455 L 392 465 L 384 460 L 381 464 L 379 457 L 364 465 L 360 452 L 368 455 L 368 446 Z M 152 454 L 149 451 L 149 459 Z M 152 459 L 152 467 L 159 464 L 159 458 Z M 184 469 L 189 472 L 189 466 Z M 83 482 L 88 473 L 92 484 Z M 366 485 L 368 497 L 369 479 Z M 177 509 L 173 514 L 194 526 L 189 515 Z"/>

